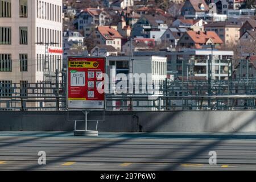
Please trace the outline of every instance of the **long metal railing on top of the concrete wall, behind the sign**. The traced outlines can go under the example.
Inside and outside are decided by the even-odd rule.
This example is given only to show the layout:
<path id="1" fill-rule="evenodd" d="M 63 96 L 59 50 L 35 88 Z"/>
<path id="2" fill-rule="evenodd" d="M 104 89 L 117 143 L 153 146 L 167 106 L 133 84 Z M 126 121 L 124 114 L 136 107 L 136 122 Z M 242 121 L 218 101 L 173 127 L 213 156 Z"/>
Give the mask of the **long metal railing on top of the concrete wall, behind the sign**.
<path id="1" fill-rule="evenodd" d="M 0 85 L 0 110 L 66 110 L 65 84 Z M 256 79 L 163 81 L 152 94 L 106 94 L 106 110 L 256 109 Z M 209 90 L 210 94 L 209 95 Z"/>

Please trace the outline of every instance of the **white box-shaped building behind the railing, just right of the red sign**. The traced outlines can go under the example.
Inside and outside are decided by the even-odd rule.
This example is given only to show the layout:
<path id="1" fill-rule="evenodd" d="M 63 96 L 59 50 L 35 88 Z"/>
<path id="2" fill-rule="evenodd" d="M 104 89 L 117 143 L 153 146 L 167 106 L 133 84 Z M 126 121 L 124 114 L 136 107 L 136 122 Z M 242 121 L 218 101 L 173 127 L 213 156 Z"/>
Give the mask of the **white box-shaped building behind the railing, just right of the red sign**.
<path id="1" fill-rule="evenodd" d="M 123 81 L 123 77 L 119 79 L 119 73 L 127 76 L 127 83 L 129 80 L 129 73 L 133 73 L 133 81 L 135 79 L 141 79 L 139 82 L 140 86 L 133 82 L 135 88 L 139 86 L 139 93 L 134 92 L 136 96 L 147 96 L 149 94 L 147 101 L 116 101 L 112 103 L 113 110 L 130 110 L 130 107 L 133 107 L 133 110 L 158 110 L 159 105 L 163 105 L 163 101 L 160 101 L 159 96 L 163 96 L 162 90 L 159 90 L 158 84 L 162 83 L 167 78 L 167 58 L 162 56 L 108 56 L 106 59 L 106 64 L 110 67 L 114 67 L 113 75 L 115 78 L 112 78 L 110 75 L 110 80 L 115 80 L 115 84 L 119 81 Z M 113 71 L 112 71 L 113 72 Z M 147 81 L 142 81 L 143 75 L 147 76 Z M 119 75 L 120 76 L 120 75 Z M 147 89 L 147 93 L 143 94 L 141 89 L 143 86 L 148 88 L 148 84 L 151 86 L 154 84 L 154 89 Z M 113 85 L 113 84 L 112 84 Z M 131 85 L 127 85 L 127 89 L 131 88 Z M 138 91 L 138 90 L 137 90 Z M 129 92 L 127 90 L 127 92 Z M 115 93 L 118 94 L 118 93 Z M 150 98 L 154 98 L 150 100 Z M 126 107 L 122 107 L 126 106 Z M 143 107 L 142 107 L 143 106 Z M 155 107 L 154 107 L 155 106 Z"/>

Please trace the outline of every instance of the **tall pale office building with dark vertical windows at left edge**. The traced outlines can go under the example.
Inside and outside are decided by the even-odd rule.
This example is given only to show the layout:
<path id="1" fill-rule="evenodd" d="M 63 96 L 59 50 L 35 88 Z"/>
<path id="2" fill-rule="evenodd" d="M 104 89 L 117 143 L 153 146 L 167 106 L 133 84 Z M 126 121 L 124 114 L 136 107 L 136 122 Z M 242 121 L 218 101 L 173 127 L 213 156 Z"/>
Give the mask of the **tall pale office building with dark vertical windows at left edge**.
<path id="1" fill-rule="evenodd" d="M 0 0 L 0 83 L 43 81 L 45 44 L 49 71 L 62 69 L 61 0 Z"/>

